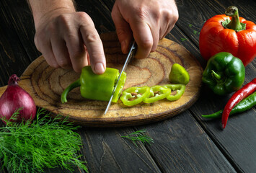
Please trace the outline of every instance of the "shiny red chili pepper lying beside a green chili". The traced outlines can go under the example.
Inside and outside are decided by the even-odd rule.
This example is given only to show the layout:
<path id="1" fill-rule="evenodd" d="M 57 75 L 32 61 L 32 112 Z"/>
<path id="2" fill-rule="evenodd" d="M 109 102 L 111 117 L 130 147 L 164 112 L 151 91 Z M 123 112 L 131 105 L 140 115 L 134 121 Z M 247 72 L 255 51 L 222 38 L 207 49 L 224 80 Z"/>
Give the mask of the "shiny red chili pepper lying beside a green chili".
<path id="1" fill-rule="evenodd" d="M 248 84 L 245 84 L 241 89 L 235 92 L 232 97 L 229 99 L 229 102 L 226 103 L 224 111 L 222 113 L 222 128 L 226 127 L 226 122 L 229 118 L 229 113 L 235 105 L 237 105 L 242 99 L 248 97 L 250 94 L 256 90 L 256 78 L 252 79 Z"/>

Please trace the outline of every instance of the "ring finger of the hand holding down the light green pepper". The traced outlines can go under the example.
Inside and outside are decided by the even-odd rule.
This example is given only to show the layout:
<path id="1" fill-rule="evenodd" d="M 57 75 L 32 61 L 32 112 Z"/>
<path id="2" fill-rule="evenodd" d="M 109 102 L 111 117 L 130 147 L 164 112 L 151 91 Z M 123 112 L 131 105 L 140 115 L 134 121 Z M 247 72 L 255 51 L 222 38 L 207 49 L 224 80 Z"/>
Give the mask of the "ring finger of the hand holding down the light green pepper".
<path id="1" fill-rule="evenodd" d="M 69 51 L 66 48 L 66 43 L 61 37 L 52 37 L 51 38 L 52 49 L 54 57 L 58 66 L 61 68 L 69 69 L 71 68 L 71 61 L 69 58 Z"/>

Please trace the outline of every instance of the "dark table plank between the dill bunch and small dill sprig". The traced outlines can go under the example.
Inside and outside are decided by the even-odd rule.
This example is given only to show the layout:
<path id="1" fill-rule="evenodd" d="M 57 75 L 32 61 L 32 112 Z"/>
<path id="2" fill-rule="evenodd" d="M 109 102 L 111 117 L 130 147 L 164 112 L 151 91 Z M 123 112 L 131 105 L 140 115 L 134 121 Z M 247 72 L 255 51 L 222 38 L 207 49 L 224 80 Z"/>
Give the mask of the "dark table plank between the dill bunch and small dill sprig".
<path id="1" fill-rule="evenodd" d="M 137 147 L 121 137 L 132 132 L 132 128 L 79 130 L 89 172 L 160 172 L 142 143 Z"/>

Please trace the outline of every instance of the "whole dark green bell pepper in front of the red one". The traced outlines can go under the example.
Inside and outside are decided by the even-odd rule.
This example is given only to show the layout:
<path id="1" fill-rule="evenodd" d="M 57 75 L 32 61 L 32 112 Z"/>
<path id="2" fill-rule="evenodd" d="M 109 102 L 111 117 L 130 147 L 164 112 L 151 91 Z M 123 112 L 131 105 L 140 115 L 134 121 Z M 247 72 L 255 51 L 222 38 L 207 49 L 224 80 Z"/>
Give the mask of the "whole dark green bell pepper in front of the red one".
<path id="1" fill-rule="evenodd" d="M 202 81 L 215 94 L 236 92 L 244 83 L 245 69 L 239 58 L 221 52 L 212 56 L 203 71 Z"/>

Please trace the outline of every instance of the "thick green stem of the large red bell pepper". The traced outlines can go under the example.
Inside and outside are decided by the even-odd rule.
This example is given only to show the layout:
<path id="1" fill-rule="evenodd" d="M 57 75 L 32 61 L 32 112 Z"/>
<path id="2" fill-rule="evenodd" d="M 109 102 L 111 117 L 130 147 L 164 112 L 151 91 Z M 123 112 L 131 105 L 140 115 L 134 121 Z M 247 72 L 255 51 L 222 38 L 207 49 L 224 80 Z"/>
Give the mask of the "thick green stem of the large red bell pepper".
<path id="1" fill-rule="evenodd" d="M 245 24 L 241 23 L 239 20 L 239 14 L 238 14 L 238 8 L 237 6 L 229 6 L 226 9 L 225 14 L 229 17 L 231 17 L 230 22 L 226 22 L 226 28 L 235 30 L 237 32 L 245 30 Z"/>

